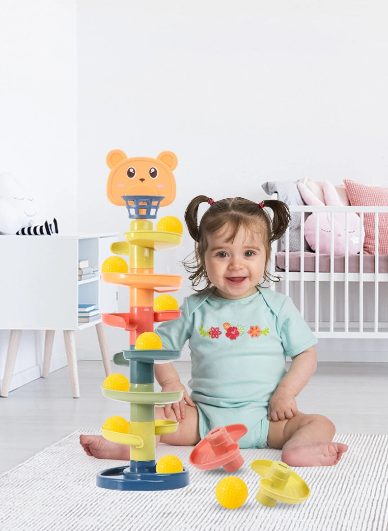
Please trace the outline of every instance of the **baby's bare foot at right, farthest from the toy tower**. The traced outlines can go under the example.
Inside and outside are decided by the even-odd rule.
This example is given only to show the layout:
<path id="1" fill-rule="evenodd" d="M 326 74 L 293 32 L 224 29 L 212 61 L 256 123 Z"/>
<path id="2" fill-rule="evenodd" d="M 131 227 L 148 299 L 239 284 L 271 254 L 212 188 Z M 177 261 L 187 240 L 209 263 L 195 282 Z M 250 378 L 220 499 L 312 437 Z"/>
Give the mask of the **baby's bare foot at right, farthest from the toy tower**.
<path id="1" fill-rule="evenodd" d="M 347 450 L 348 445 L 341 442 L 285 444 L 281 459 L 289 466 L 331 466 L 336 465 Z"/>

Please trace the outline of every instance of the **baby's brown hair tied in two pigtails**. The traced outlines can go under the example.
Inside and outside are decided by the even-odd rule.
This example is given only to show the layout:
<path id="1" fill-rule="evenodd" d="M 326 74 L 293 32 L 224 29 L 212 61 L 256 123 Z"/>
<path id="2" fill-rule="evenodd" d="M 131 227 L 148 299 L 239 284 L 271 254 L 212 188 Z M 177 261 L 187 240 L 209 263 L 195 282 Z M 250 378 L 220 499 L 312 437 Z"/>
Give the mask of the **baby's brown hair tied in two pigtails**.
<path id="1" fill-rule="evenodd" d="M 210 208 L 202 216 L 198 225 L 198 207 L 201 203 L 207 202 Z M 263 207 L 261 206 L 263 205 Z M 273 218 L 268 215 L 264 207 L 271 208 Z M 220 201 L 213 201 L 206 195 L 197 195 L 188 204 L 184 213 L 184 221 L 195 241 L 193 258 L 183 260 L 183 266 L 186 271 L 191 273 L 192 288 L 195 291 L 203 292 L 212 284 L 209 281 L 205 270 L 205 251 L 207 249 L 207 235 L 217 232 L 226 223 L 231 226 L 231 234 L 227 241 L 233 241 L 240 226 L 249 230 L 256 230 L 257 225 L 262 224 L 266 233 L 266 260 L 264 270 L 264 280 L 278 281 L 279 277 L 271 275 L 267 270 L 269 256 L 271 255 L 272 242 L 279 239 L 285 233 L 290 225 L 290 211 L 288 205 L 283 201 L 268 199 L 261 203 L 254 203 L 244 198 L 227 198 Z M 195 286 L 202 280 L 206 280 L 206 286 L 203 289 L 195 289 Z"/>

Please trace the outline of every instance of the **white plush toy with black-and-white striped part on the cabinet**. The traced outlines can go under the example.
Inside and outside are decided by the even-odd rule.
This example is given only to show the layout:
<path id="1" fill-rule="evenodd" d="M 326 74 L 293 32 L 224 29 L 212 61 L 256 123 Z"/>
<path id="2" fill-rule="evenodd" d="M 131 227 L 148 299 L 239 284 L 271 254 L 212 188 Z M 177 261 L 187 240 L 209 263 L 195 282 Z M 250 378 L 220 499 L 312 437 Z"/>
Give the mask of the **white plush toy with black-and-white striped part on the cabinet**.
<path id="1" fill-rule="evenodd" d="M 0 234 L 58 233 L 55 219 L 41 222 L 36 200 L 9 173 L 0 174 Z"/>

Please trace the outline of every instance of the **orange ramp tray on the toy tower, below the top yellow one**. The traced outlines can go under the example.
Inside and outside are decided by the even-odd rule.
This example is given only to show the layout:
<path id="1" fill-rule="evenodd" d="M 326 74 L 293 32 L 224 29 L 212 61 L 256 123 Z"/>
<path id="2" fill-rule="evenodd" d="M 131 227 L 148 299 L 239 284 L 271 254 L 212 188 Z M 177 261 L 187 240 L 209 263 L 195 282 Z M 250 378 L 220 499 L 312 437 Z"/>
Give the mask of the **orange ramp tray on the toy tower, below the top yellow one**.
<path id="1" fill-rule="evenodd" d="M 104 282 L 140 289 L 153 289 L 157 293 L 176 292 L 183 277 L 179 275 L 156 275 L 154 273 L 101 273 Z"/>

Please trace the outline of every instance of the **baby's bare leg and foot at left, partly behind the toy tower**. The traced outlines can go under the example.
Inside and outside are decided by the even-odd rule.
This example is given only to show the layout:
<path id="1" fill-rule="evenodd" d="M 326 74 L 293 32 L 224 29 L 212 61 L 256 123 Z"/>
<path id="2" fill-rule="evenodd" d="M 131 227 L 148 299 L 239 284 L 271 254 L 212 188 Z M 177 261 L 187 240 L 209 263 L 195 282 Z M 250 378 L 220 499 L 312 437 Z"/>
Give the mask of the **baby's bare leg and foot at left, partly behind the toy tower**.
<path id="1" fill-rule="evenodd" d="M 164 407 L 157 407 L 155 409 L 155 418 L 176 421 L 173 410 L 171 410 L 170 417 L 166 419 Z M 191 444 L 196 444 L 199 440 L 197 408 L 186 406 L 186 416 L 178 424 L 177 430 L 167 435 L 157 435 L 155 437 L 155 446 L 158 446 L 159 442 L 178 446 L 190 446 Z M 129 446 L 107 441 L 102 435 L 80 435 L 80 444 L 88 456 L 93 456 L 97 459 L 120 459 L 124 461 L 129 461 L 130 459 Z"/>

